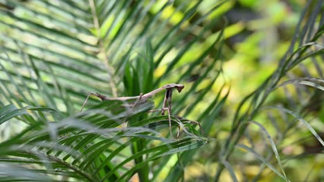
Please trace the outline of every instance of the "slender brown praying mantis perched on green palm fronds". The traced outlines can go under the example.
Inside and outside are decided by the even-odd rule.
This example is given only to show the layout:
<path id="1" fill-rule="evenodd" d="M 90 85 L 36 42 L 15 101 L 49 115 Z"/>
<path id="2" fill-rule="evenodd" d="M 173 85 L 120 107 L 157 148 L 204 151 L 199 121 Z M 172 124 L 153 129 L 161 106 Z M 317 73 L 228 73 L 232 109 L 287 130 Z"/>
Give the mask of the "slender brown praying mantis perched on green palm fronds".
<path id="1" fill-rule="evenodd" d="M 161 115 L 164 115 L 165 114 L 165 111 L 168 111 L 168 120 L 169 120 L 170 134 L 172 135 L 172 125 L 171 125 L 172 110 L 171 110 L 171 101 L 172 101 L 172 89 L 173 88 L 177 89 L 178 92 L 180 93 L 181 90 L 183 90 L 184 85 L 177 84 L 177 83 L 170 83 L 170 84 L 164 85 L 163 87 L 158 88 L 156 90 L 152 90 L 151 92 L 148 92 L 146 94 L 140 94 L 139 96 L 134 96 L 134 97 L 114 97 L 114 98 L 110 98 L 110 97 L 107 97 L 107 96 L 102 95 L 102 94 L 99 94 L 99 93 L 90 92 L 88 94 L 87 99 L 84 101 L 80 112 L 83 110 L 84 105 L 86 105 L 86 103 L 87 103 L 87 101 L 88 101 L 88 99 L 89 99 L 89 97 L 91 95 L 98 97 L 102 101 L 127 101 L 129 99 L 136 99 L 136 103 L 137 103 L 138 101 L 145 101 L 146 99 L 148 99 L 150 97 L 153 97 L 156 93 L 161 92 L 163 90 L 166 90 L 165 91 L 165 96 L 164 96 L 164 101 L 163 101 L 162 108 L 161 109 L 158 109 L 158 110 L 149 110 L 148 112 L 159 112 L 159 111 L 161 111 Z M 134 105 L 136 105 L 136 103 L 134 103 Z M 182 117 L 178 117 L 178 116 L 174 116 L 174 117 L 176 117 L 177 119 L 183 119 Z M 190 123 L 195 123 L 195 124 L 199 125 L 199 128 L 201 130 L 201 125 L 197 121 L 190 121 Z M 178 130 L 178 133 L 177 133 L 177 138 L 179 137 L 179 133 L 180 133 L 180 127 L 179 126 L 178 126 L 178 129 L 179 130 Z M 201 130 L 201 132 L 202 132 L 202 130 Z"/>

